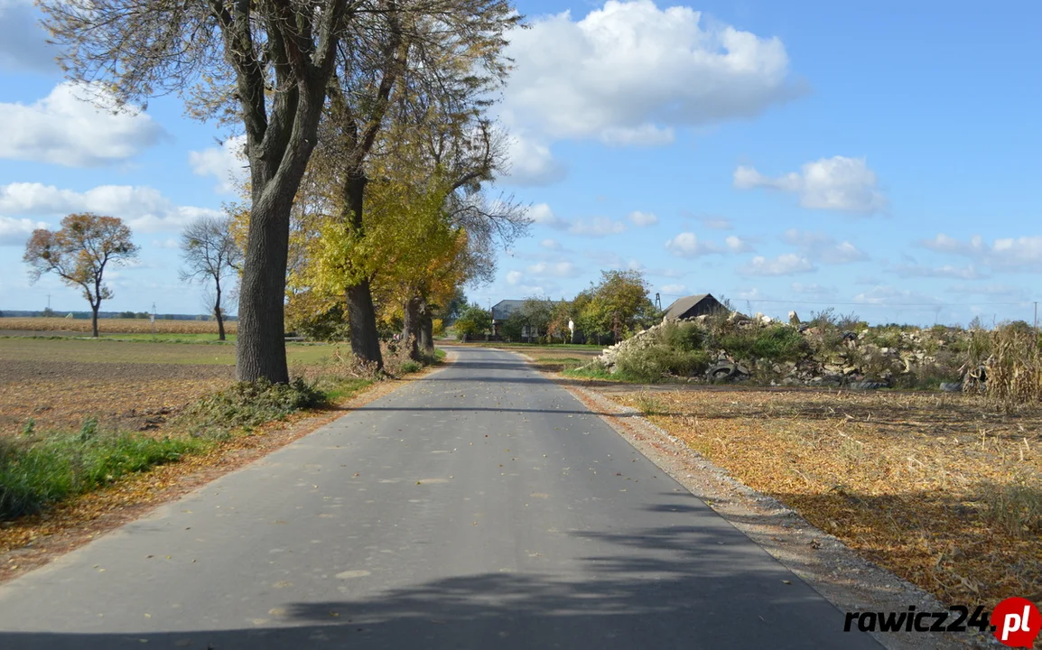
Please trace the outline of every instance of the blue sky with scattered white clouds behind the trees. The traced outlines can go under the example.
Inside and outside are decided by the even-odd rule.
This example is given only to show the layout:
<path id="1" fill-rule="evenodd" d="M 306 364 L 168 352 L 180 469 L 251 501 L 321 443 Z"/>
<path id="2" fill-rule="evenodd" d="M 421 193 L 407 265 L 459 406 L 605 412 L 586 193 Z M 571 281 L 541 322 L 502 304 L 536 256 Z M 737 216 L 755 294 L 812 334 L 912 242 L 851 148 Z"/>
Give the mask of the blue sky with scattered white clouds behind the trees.
<path id="1" fill-rule="evenodd" d="M 531 206 L 481 304 L 642 269 L 664 306 L 724 295 L 803 318 L 1032 320 L 1042 272 L 1042 5 L 520 2 L 493 192 Z M 232 135 L 176 98 L 97 111 L 27 0 L 0 0 L 0 309 L 85 301 L 22 250 L 70 211 L 121 217 L 141 262 L 102 308 L 201 312 L 171 248 L 228 192 Z M 233 143 L 234 141 L 232 141 Z M 222 143 L 225 143 L 222 146 Z"/>

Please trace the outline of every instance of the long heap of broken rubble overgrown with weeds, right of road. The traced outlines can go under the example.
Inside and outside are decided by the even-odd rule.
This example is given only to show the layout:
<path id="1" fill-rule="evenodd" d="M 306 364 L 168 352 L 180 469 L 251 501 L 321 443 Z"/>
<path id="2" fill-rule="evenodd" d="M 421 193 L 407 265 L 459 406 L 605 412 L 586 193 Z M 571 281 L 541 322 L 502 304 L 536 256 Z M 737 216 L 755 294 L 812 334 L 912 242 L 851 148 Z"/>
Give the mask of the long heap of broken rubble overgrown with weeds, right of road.
<path id="1" fill-rule="evenodd" d="M 709 317 L 699 316 L 689 319 L 695 323 L 705 324 Z M 738 329 L 791 327 L 798 331 L 807 341 L 810 352 L 807 357 L 797 361 L 771 362 L 766 359 L 736 359 L 726 350 L 711 350 L 715 361 L 710 365 L 704 376 L 691 377 L 689 380 L 709 381 L 743 381 L 752 377 L 754 370 L 767 371 L 760 373 L 764 377 L 773 377 L 773 385 L 810 385 L 810 386 L 848 386 L 853 389 L 879 389 L 891 386 L 900 375 L 916 373 L 927 366 L 937 366 L 939 361 L 950 366 L 954 354 L 952 344 L 958 336 L 967 336 L 965 331 L 952 329 L 897 329 L 885 328 L 886 342 L 880 345 L 878 332 L 873 330 L 842 332 L 842 342 L 837 345 L 836 331 L 822 331 L 818 327 L 801 323 L 795 312 L 790 312 L 789 323 L 783 323 L 762 314 L 747 317 L 733 311 L 728 323 Z M 666 325 L 667 321 L 638 332 L 631 338 L 605 348 L 594 361 L 609 372 L 617 372 L 620 356 L 639 352 L 656 344 L 655 333 Z M 829 338 L 826 345 L 825 339 Z M 942 358 L 943 357 L 943 358 Z M 983 379 L 978 377 L 979 369 L 967 373 L 961 369 L 964 378 L 968 380 Z M 942 390 L 960 391 L 962 381 L 943 383 Z"/>

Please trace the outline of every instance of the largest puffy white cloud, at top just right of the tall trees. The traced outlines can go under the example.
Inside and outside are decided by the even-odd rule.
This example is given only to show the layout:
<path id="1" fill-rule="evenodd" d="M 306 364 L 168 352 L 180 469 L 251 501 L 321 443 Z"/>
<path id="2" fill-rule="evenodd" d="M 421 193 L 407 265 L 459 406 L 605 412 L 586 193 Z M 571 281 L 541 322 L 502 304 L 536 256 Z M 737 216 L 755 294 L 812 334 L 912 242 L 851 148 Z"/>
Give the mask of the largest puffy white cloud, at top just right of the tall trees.
<path id="1" fill-rule="evenodd" d="M 674 127 L 759 115 L 793 97 L 777 39 L 703 26 L 690 7 L 618 2 L 565 11 L 512 35 L 502 118 L 551 140 L 661 145 Z"/>

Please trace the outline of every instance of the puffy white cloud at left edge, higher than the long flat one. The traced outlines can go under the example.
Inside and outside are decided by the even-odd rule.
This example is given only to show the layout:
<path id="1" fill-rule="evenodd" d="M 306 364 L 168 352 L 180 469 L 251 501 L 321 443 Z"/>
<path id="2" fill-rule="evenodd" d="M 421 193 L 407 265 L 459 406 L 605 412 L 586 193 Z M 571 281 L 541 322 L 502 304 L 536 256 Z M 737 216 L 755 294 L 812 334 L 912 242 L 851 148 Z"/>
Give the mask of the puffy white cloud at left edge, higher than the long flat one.
<path id="1" fill-rule="evenodd" d="M 117 110 L 100 83 L 71 81 L 31 105 L 0 103 L 0 158 L 66 167 L 100 167 L 131 158 L 164 132 L 137 106 Z"/>

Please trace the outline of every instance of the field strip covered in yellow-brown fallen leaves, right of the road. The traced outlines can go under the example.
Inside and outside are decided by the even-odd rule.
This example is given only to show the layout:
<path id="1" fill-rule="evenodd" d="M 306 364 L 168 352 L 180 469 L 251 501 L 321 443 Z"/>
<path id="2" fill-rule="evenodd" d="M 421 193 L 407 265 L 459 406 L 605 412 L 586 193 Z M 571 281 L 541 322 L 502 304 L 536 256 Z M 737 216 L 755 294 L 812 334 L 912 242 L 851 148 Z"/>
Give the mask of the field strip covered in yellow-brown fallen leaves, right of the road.
<path id="1" fill-rule="evenodd" d="M 1042 407 L 950 394 L 609 394 L 954 604 L 1042 600 Z"/>

